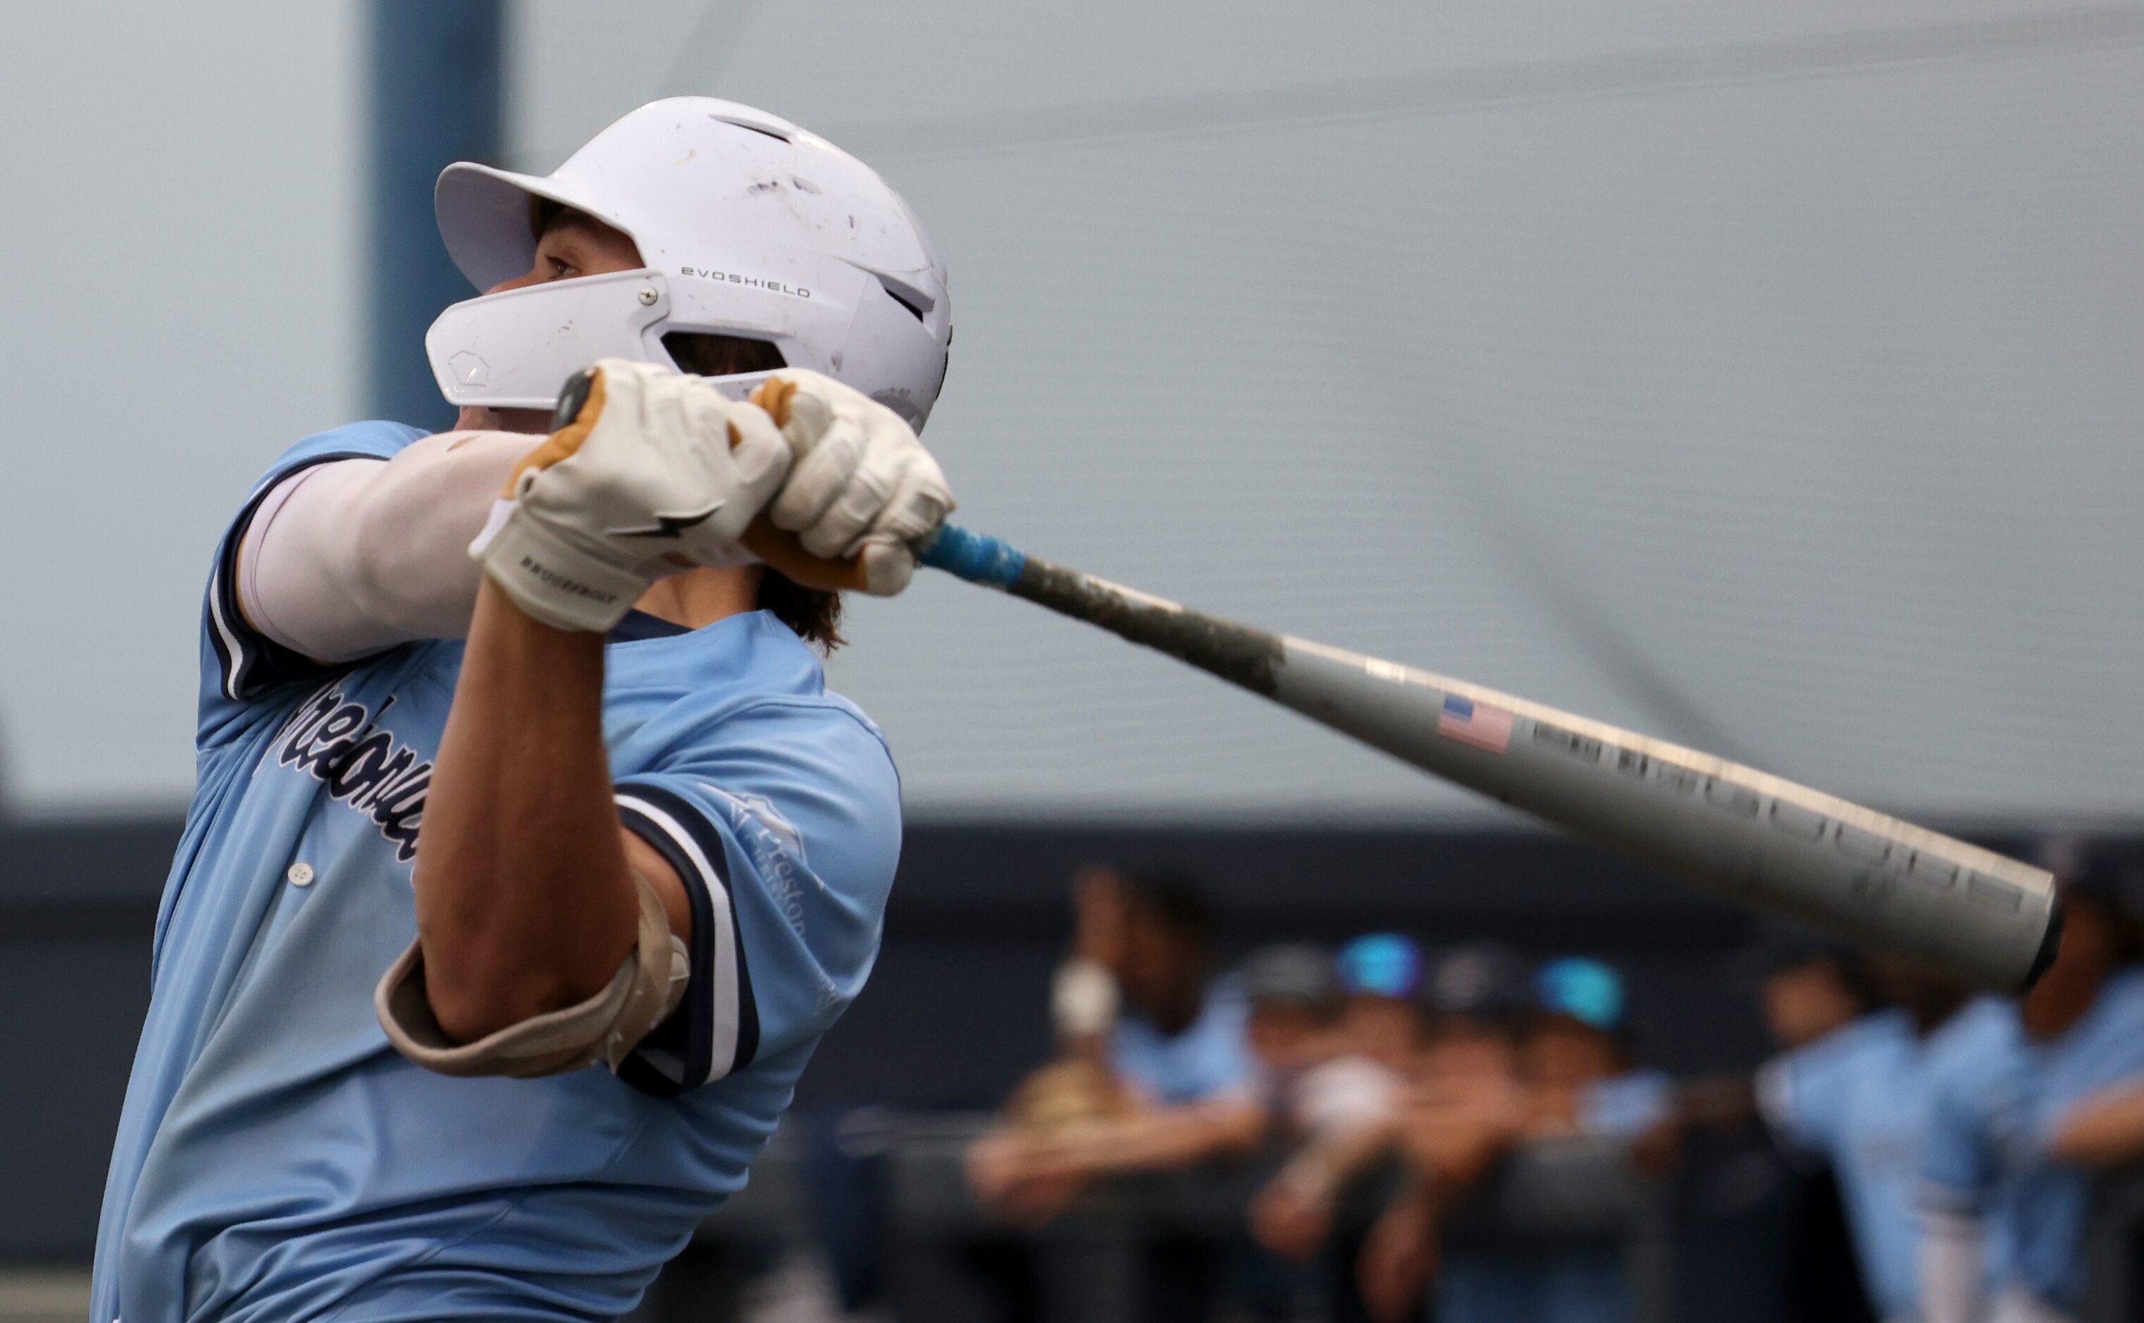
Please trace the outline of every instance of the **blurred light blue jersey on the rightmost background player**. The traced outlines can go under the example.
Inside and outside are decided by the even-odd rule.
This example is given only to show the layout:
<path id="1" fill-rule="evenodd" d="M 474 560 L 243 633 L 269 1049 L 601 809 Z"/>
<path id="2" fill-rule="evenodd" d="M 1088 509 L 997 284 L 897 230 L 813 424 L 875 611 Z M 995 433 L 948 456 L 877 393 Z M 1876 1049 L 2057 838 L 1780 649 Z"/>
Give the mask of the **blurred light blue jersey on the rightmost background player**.
<path id="1" fill-rule="evenodd" d="M 2084 1299 L 2080 1244 L 2090 1175 L 2052 1162 L 2048 1143 L 2080 1098 L 2144 1076 L 2144 971 L 2114 976 L 2060 1038 L 2026 1038 L 2013 1006 L 1981 1051 L 1947 1053 L 1934 1070 L 1925 1194 L 1987 1218 L 1996 1289 L 2058 1308 Z"/>

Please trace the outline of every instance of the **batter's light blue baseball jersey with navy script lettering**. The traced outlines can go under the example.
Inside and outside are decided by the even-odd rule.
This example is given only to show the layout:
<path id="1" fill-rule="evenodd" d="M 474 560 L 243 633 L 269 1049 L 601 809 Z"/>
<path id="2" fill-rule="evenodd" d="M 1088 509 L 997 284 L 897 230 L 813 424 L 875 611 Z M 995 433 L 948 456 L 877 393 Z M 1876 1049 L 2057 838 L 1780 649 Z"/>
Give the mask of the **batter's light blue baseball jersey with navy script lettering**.
<path id="1" fill-rule="evenodd" d="M 448 1079 L 373 986 L 461 667 L 317 667 L 247 628 L 236 542 L 277 480 L 384 459 L 360 422 L 283 455 L 217 553 L 197 789 L 96 1242 L 94 1321 L 615 1319 L 744 1184 L 879 946 L 900 793 L 877 727 L 765 613 L 611 637 L 620 819 L 686 879 L 693 982 L 613 1076 Z"/>

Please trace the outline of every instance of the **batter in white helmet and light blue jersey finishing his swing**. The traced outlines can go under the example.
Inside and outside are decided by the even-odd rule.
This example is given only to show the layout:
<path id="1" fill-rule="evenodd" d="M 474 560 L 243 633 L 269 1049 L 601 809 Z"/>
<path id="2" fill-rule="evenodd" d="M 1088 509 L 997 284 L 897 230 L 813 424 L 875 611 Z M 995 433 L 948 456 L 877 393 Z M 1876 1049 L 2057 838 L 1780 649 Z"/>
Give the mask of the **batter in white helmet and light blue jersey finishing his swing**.
<path id="1" fill-rule="evenodd" d="M 952 506 L 915 214 L 708 99 L 437 214 L 487 292 L 427 337 L 457 431 L 298 442 L 214 555 L 99 1321 L 624 1314 L 879 948 L 840 598 L 746 542 L 892 594 Z"/>

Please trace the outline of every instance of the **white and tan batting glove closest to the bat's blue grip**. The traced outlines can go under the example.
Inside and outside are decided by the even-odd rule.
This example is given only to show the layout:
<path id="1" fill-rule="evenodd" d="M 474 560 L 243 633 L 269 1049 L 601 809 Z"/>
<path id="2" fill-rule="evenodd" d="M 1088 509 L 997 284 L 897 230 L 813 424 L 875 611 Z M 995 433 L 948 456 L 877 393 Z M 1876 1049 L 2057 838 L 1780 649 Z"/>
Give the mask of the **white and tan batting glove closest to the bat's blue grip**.
<path id="1" fill-rule="evenodd" d="M 952 487 L 915 431 L 834 377 L 785 369 L 753 399 L 780 422 L 795 465 L 768 506 L 776 527 L 823 560 L 862 558 L 864 592 L 892 596 L 915 575 L 913 542 L 952 510 Z"/>

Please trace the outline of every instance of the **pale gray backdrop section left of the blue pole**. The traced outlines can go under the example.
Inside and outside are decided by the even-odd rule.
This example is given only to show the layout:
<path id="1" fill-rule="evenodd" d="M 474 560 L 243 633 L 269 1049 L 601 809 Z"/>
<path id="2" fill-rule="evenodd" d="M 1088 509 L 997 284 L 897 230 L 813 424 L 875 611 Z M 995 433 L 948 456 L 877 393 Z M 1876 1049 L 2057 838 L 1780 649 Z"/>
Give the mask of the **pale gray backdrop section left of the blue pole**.
<path id="1" fill-rule="evenodd" d="M 208 553 L 358 407 L 358 6 L 15 4 L 0 41 L 0 765 L 193 789 Z"/>

